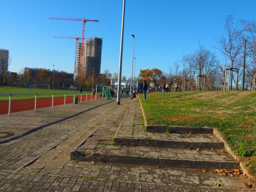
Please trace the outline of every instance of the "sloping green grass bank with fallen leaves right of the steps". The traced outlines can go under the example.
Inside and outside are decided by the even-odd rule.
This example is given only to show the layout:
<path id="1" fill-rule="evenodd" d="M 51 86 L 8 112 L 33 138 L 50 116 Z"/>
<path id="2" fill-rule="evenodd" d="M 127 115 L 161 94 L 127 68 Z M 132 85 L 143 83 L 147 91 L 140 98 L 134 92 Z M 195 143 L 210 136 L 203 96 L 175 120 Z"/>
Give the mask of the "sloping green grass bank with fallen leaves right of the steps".
<path id="1" fill-rule="evenodd" d="M 256 92 L 149 93 L 140 100 L 149 125 L 217 128 L 256 173 Z"/>

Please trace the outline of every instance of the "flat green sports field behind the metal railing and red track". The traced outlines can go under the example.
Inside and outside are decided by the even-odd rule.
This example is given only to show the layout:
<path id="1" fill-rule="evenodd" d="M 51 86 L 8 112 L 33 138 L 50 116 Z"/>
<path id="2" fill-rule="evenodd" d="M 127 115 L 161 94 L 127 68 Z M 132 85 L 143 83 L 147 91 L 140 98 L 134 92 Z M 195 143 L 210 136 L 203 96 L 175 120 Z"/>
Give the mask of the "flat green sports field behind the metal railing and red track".
<path id="1" fill-rule="evenodd" d="M 64 97 L 64 93 L 67 93 L 67 96 L 80 96 L 79 90 L 48 90 L 48 89 L 32 89 L 29 88 L 17 88 L 17 87 L 0 87 L 0 93 L 49 93 L 44 95 L 38 95 L 37 98 L 49 98 L 52 97 L 51 93 L 63 93 L 63 94 L 56 94 L 55 97 Z M 83 95 L 91 94 L 91 92 L 83 91 Z M 34 99 L 35 95 L 13 95 L 12 100 L 23 100 L 23 99 Z M 0 101 L 7 101 L 9 100 L 8 95 L 0 95 Z"/>

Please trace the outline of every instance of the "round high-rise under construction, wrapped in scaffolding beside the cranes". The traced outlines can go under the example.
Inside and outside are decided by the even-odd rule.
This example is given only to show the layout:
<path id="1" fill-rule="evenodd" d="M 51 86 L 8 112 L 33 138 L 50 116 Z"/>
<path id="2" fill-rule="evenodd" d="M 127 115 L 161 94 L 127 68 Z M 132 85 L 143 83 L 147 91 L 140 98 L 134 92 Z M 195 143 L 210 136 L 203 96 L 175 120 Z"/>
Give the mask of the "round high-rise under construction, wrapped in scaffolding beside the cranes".
<path id="1" fill-rule="evenodd" d="M 90 76 L 99 76 L 102 57 L 102 38 L 87 38 L 84 42 L 82 53 L 82 62 L 80 64 L 81 43 L 77 47 L 76 73 L 74 79 L 77 78 L 79 70 L 81 70 L 81 78 L 87 79 Z M 94 70 L 93 70 L 94 68 Z"/>

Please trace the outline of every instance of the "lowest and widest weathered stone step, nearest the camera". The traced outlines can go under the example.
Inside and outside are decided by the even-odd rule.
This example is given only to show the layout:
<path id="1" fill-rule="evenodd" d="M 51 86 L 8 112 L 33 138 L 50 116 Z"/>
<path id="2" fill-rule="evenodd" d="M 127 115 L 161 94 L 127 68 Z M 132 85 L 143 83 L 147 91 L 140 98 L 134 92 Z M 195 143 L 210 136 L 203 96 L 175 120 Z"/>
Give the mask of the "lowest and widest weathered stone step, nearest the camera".
<path id="1" fill-rule="evenodd" d="M 192 169 L 237 169 L 239 162 L 221 151 L 189 150 L 156 147 L 97 145 L 95 149 L 71 151 L 71 160 L 100 161 L 147 166 Z"/>

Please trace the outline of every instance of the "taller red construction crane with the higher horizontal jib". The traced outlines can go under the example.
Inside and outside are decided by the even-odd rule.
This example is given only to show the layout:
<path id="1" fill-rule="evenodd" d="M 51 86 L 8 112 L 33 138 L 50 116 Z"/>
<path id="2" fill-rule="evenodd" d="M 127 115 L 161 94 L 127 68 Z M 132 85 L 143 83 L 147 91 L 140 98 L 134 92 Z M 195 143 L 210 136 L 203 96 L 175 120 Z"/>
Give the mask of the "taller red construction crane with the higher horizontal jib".
<path id="1" fill-rule="evenodd" d="M 65 18 L 65 17 L 50 17 L 49 19 L 56 19 L 56 20 L 81 20 L 81 21 L 83 21 L 82 37 L 81 37 L 81 52 L 80 52 L 79 71 L 78 71 L 78 77 L 81 78 L 81 67 L 82 67 L 83 45 L 84 45 L 84 26 L 85 26 L 85 23 L 87 21 L 99 22 L 99 20 L 90 20 L 90 19 L 81 19 L 81 18 Z"/>

